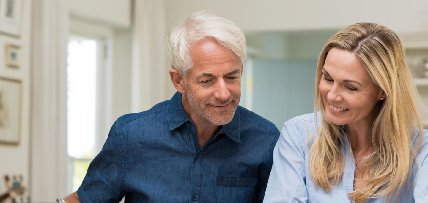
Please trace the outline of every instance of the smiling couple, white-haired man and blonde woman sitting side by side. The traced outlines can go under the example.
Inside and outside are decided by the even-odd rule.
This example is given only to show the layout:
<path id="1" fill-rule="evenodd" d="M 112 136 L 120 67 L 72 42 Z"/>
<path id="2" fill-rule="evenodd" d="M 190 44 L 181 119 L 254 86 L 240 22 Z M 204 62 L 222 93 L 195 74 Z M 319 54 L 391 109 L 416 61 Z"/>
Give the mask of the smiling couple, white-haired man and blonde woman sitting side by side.
<path id="1" fill-rule="evenodd" d="M 117 119 L 65 202 L 375 203 L 427 196 L 419 96 L 401 41 L 385 26 L 357 23 L 327 41 L 315 113 L 285 122 L 281 132 L 238 106 L 247 53 L 234 23 L 195 12 L 172 26 L 167 49 L 178 92 Z"/>

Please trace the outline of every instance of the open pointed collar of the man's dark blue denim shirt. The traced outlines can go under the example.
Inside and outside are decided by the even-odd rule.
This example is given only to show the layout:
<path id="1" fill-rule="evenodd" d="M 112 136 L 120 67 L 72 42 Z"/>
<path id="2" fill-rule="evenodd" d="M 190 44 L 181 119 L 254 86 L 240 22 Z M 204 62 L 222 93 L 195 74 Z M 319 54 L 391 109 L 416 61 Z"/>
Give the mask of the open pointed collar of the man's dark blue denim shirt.
<path id="1" fill-rule="evenodd" d="M 170 131 L 178 128 L 185 122 L 190 121 L 189 116 L 187 116 L 184 111 L 183 104 L 181 103 L 181 96 L 182 94 L 177 91 L 174 96 L 172 96 L 171 100 L 169 100 L 167 105 L 166 112 Z M 215 139 L 217 135 L 225 133 L 229 139 L 232 139 L 235 142 L 241 142 L 240 127 L 240 113 L 238 107 L 235 111 L 235 115 L 233 115 L 232 121 L 226 125 L 221 125 L 213 138 Z"/>

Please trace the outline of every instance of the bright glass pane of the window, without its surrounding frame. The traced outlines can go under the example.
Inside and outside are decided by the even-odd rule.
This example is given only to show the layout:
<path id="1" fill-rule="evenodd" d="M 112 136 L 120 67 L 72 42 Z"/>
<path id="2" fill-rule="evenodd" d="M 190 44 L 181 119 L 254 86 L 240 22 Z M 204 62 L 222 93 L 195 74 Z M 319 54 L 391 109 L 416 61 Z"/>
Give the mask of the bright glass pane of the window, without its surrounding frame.
<path id="1" fill-rule="evenodd" d="M 95 157 L 97 41 L 72 34 L 67 62 L 67 144 L 71 188 L 77 191 Z"/>

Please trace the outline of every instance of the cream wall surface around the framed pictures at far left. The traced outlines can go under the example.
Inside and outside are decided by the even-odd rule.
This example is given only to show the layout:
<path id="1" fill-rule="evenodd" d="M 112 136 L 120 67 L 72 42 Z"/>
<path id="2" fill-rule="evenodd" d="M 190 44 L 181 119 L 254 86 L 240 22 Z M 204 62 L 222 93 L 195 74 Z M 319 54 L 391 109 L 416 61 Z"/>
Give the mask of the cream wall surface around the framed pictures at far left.
<path id="1" fill-rule="evenodd" d="M 24 0 L 22 10 L 22 27 L 19 38 L 0 34 L 0 76 L 15 78 L 22 81 L 22 125 L 21 142 L 18 145 L 0 144 L 0 194 L 6 192 L 3 175 L 6 173 L 22 173 L 29 179 L 29 118 L 30 118 L 30 29 L 32 0 Z M 11 69 L 5 64 L 6 44 L 21 46 L 21 67 Z M 28 181 L 27 181 L 28 184 Z M 28 186 L 28 185 L 27 185 Z"/>

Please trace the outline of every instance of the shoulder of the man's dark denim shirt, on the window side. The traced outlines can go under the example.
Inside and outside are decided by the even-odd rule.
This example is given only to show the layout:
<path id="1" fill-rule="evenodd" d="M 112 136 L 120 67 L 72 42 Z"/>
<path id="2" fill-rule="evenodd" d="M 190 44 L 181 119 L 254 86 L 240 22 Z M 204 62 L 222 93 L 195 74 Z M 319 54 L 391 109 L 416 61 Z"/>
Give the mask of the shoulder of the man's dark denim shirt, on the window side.
<path id="1" fill-rule="evenodd" d="M 159 117 L 160 118 L 166 118 L 166 110 L 167 110 L 167 106 L 168 106 L 168 102 L 169 100 L 160 102 L 158 104 L 156 104 L 155 106 L 153 106 L 151 109 L 149 110 L 145 110 L 139 113 L 128 113 L 125 114 L 123 116 L 120 116 L 117 120 L 116 120 L 116 125 L 118 127 L 121 127 L 129 122 L 136 122 L 138 120 L 141 119 L 155 119 L 155 117 Z M 162 114 L 162 115 L 159 115 Z M 158 118 L 156 118 L 158 119 Z"/>

